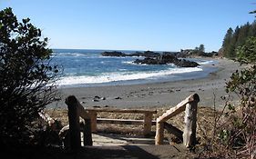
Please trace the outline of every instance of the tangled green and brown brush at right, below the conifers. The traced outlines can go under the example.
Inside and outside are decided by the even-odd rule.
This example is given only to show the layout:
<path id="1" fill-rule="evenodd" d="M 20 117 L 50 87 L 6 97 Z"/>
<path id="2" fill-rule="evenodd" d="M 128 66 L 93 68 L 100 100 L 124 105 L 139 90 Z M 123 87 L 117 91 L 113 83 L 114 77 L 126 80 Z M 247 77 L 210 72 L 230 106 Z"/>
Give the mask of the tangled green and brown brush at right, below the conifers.
<path id="1" fill-rule="evenodd" d="M 256 157 L 256 37 L 250 37 L 237 50 L 237 59 L 248 64 L 230 76 L 227 93 L 239 96 L 241 104 L 235 107 L 227 101 L 225 108 L 215 119 L 210 143 L 204 156 L 216 158 Z M 218 122 L 217 122 L 218 121 Z"/>

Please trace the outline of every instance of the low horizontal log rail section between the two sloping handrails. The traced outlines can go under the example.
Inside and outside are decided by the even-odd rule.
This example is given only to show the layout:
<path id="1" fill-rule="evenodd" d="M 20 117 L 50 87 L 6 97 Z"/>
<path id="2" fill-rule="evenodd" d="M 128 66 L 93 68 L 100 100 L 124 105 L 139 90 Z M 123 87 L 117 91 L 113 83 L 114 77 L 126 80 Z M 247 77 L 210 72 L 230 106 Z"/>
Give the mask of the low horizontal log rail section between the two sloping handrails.
<path id="1" fill-rule="evenodd" d="M 151 133 L 153 114 L 157 114 L 157 111 L 145 110 L 145 109 L 113 109 L 113 108 L 87 108 L 86 109 L 91 118 L 91 129 L 93 133 L 97 132 L 97 124 L 143 124 L 143 134 L 147 136 Z M 97 113 L 121 113 L 121 114 L 144 114 L 143 120 L 131 120 L 131 119 L 106 119 L 97 118 Z"/>

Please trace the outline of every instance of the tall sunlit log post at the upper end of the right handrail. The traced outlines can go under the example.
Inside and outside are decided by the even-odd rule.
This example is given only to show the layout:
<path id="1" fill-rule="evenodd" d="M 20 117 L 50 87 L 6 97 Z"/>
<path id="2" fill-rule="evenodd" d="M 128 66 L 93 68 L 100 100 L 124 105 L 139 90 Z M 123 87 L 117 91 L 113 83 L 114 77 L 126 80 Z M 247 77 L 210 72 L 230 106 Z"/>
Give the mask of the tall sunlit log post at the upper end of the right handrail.
<path id="1" fill-rule="evenodd" d="M 198 94 L 194 96 L 194 101 L 186 104 L 185 110 L 185 127 L 183 133 L 183 144 L 186 147 L 196 145 L 196 130 L 197 130 L 197 109 L 200 98 Z"/>

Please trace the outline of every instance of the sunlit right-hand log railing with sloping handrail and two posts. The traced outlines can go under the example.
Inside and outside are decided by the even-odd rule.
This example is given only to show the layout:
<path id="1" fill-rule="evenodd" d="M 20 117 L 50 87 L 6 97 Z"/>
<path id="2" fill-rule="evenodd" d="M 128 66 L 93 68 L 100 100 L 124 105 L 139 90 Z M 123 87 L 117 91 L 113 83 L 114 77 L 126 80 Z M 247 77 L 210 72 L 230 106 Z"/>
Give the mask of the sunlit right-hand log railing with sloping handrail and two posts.
<path id="1" fill-rule="evenodd" d="M 157 130 L 155 137 L 155 144 L 163 144 L 164 129 L 168 129 L 173 134 L 176 134 L 179 138 L 183 137 L 183 144 L 186 147 L 190 147 L 196 144 L 196 128 L 197 128 L 197 107 L 200 102 L 200 97 L 198 94 L 191 94 L 185 100 L 177 104 L 175 107 L 170 108 L 166 113 L 159 116 L 157 119 Z M 171 117 L 180 114 L 185 111 L 185 126 L 184 132 L 180 131 L 178 128 L 167 124 L 166 121 Z"/>

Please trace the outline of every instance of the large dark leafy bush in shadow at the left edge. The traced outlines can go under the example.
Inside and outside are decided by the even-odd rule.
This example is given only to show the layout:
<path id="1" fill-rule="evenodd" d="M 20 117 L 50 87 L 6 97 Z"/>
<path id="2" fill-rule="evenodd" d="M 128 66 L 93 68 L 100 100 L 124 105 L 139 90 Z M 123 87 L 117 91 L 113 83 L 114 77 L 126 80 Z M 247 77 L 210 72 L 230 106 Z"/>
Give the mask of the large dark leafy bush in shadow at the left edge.
<path id="1" fill-rule="evenodd" d="M 55 100 L 52 51 L 29 22 L 18 22 L 11 8 L 0 11 L 0 144 L 26 141 L 38 112 Z"/>

